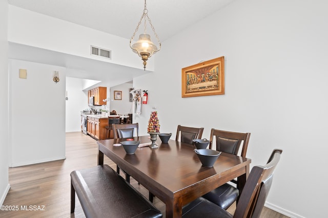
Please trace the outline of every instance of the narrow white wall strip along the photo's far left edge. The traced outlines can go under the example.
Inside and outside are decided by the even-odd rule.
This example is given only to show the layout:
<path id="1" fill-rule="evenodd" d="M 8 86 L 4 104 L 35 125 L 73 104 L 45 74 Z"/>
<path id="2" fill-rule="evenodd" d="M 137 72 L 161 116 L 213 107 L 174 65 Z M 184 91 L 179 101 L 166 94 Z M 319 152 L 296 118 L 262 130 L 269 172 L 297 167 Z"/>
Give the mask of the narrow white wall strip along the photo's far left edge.
<path id="1" fill-rule="evenodd" d="M 10 188 L 8 179 L 8 2 L 0 1 L 0 205 Z"/>

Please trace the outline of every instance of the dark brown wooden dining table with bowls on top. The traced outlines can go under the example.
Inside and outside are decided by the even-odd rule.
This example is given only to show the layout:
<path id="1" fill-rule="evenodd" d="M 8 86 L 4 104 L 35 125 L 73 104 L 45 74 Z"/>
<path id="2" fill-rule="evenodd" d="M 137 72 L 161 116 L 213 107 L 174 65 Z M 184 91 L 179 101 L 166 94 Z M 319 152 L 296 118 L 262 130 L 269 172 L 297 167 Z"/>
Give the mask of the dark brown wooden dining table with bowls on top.
<path id="1" fill-rule="evenodd" d="M 181 217 L 182 207 L 207 192 L 237 178 L 242 191 L 249 175 L 251 159 L 221 153 L 213 167 L 202 166 L 194 146 L 170 139 L 152 149 L 150 136 L 132 137 L 141 146 L 134 154 L 127 154 L 121 141 L 127 138 L 99 140 L 98 164 L 104 164 L 104 155 L 119 168 L 147 188 L 166 205 L 166 217 Z"/>

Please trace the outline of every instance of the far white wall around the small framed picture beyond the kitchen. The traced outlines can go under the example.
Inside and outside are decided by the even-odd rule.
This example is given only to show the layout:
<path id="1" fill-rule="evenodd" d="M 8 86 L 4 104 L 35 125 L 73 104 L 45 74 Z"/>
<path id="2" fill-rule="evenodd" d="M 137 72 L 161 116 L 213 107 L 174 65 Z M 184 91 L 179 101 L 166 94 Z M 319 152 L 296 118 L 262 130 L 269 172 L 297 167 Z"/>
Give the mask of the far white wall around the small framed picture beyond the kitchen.
<path id="1" fill-rule="evenodd" d="M 132 102 L 129 101 L 129 89 L 133 87 L 132 83 L 123 83 L 110 88 L 110 111 L 115 110 L 117 114 L 132 113 Z M 114 91 L 122 91 L 122 100 L 114 100 Z"/>

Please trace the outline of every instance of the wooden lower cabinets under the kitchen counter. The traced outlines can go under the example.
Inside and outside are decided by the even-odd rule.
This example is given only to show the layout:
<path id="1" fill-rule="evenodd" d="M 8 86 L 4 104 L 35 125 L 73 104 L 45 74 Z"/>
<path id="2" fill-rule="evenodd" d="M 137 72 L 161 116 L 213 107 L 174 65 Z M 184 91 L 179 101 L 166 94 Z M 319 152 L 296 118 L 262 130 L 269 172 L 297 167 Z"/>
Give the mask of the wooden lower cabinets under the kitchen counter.
<path id="1" fill-rule="evenodd" d="M 107 138 L 106 126 L 108 126 L 108 118 L 98 118 L 88 116 L 87 133 L 97 140 L 104 140 Z"/>

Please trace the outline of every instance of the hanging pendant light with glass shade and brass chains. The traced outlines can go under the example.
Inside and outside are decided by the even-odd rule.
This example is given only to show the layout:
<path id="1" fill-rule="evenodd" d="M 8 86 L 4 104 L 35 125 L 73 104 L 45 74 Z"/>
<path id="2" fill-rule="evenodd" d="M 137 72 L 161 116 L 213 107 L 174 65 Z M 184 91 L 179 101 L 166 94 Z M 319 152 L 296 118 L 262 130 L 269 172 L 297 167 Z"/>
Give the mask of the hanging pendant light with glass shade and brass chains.
<path id="1" fill-rule="evenodd" d="M 158 52 L 160 50 L 161 43 L 158 39 L 158 36 L 155 32 L 155 29 L 152 25 L 152 22 L 151 22 L 151 20 L 148 16 L 146 0 L 145 0 L 145 5 L 144 6 L 145 6 L 144 12 L 142 13 L 140 21 L 138 22 L 138 26 L 136 27 L 136 29 L 135 29 L 132 37 L 131 37 L 130 47 L 131 47 L 132 51 L 134 53 L 138 54 L 139 57 L 141 57 L 141 59 L 144 61 L 144 69 L 146 70 L 146 64 L 147 64 L 148 58 L 150 58 L 153 54 L 155 54 L 156 52 Z M 133 45 L 131 45 L 132 40 L 133 40 L 136 32 L 138 31 L 139 26 L 141 25 L 142 19 L 144 19 L 144 26 L 145 26 L 144 33 L 140 34 L 138 41 L 136 43 L 134 43 Z M 153 30 L 154 35 L 155 35 L 155 37 L 158 41 L 159 48 L 157 48 L 157 46 L 151 41 L 150 35 L 146 33 L 147 20 L 148 20 L 148 22 L 150 24 L 150 27 Z"/>

